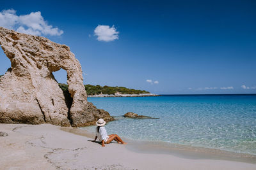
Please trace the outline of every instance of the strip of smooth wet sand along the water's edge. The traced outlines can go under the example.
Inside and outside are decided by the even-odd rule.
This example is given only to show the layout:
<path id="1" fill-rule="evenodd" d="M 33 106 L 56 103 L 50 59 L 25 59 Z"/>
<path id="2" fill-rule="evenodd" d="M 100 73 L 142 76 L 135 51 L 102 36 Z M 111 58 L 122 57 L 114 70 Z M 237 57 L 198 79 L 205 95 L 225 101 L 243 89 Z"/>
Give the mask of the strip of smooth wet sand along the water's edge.
<path id="1" fill-rule="evenodd" d="M 82 127 L 83 128 L 83 127 Z M 65 129 L 62 131 L 71 132 L 88 138 L 94 138 L 93 132 L 82 129 Z M 122 137 L 124 138 L 124 137 Z M 127 145 L 127 149 L 136 153 L 156 153 L 175 155 L 187 159 L 214 159 L 214 160 L 231 160 L 237 162 L 246 162 L 256 164 L 256 155 L 250 153 L 232 152 L 228 150 L 220 150 L 216 148 L 205 148 L 200 146 L 187 146 L 176 143 L 168 143 L 164 141 L 138 141 L 135 139 L 124 138 L 131 145 Z"/>

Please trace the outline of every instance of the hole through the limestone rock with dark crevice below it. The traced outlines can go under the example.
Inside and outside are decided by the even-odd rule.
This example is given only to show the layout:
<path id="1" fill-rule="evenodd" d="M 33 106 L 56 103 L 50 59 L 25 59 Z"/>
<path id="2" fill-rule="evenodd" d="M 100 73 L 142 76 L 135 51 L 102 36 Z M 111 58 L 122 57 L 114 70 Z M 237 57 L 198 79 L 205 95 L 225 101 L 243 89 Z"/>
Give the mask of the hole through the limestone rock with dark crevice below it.
<path id="1" fill-rule="evenodd" d="M 59 83 L 60 89 L 63 91 L 63 95 L 65 97 L 65 103 L 68 108 L 68 120 L 70 120 L 70 108 L 73 102 L 73 98 L 70 96 L 70 93 L 68 92 L 68 85 L 67 85 L 67 71 L 64 69 L 60 69 L 59 71 L 52 72 L 55 80 Z M 53 101 L 52 101 L 53 103 Z"/>

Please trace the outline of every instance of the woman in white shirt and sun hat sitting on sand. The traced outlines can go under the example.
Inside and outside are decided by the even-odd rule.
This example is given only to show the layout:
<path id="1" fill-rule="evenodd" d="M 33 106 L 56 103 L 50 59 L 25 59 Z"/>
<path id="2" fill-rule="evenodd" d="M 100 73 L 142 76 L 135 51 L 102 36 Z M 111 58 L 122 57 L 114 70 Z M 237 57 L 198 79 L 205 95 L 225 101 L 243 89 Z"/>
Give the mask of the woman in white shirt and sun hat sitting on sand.
<path id="1" fill-rule="evenodd" d="M 117 143 L 127 144 L 117 135 L 117 134 L 110 134 L 108 136 L 107 131 L 105 127 L 103 127 L 106 124 L 106 122 L 103 120 L 103 118 L 100 118 L 97 122 L 97 129 L 96 129 L 96 136 L 94 141 L 99 137 L 99 140 L 102 142 L 102 147 L 105 146 L 105 143 L 111 143 L 111 141 L 115 140 Z"/>

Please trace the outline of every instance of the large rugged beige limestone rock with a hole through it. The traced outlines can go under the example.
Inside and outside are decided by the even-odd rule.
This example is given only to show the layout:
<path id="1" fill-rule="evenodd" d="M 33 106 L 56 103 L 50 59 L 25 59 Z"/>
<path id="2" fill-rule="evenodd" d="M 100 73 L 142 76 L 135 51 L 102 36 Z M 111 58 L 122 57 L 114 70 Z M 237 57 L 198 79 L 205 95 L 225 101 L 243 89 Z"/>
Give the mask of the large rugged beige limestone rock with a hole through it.
<path id="1" fill-rule="evenodd" d="M 12 63 L 0 80 L 0 122 L 83 126 L 97 118 L 112 120 L 87 102 L 81 65 L 68 46 L 3 27 L 0 45 Z M 52 74 L 61 68 L 67 71 L 72 104 L 65 103 Z"/>

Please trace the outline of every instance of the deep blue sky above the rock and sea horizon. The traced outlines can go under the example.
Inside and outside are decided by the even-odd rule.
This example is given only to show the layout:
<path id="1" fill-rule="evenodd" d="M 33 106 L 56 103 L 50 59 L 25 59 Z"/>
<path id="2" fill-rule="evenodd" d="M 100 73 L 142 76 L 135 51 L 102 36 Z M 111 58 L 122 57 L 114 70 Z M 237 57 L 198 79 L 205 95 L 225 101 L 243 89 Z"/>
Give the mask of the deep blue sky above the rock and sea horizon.
<path id="1" fill-rule="evenodd" d="M 7 23 L 16 30 L 28 31 L 33 20 L 24 16 L 40 14 L 38 34 L 70 46 L 85 84 L 157 94 L 256 93 L 256 1 L 2 0 L 6 27 L 3 10 L 23 16 Z M 4 74 L 10 60 L 3 50 L 0 58 Z M 54 75 L 67 81 L 65 71 Z"/>

